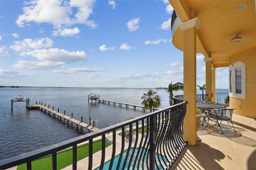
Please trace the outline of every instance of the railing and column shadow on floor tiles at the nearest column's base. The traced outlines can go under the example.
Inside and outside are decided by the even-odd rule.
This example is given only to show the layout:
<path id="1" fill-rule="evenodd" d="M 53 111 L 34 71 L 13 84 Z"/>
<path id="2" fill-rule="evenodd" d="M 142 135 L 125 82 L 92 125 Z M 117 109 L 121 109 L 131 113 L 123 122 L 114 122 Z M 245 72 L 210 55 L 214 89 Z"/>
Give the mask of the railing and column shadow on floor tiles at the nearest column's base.
<path id="1" fill-rule="evenodd" d="M 223 169 L 217 161 L 225 155 L 203 142 L 198 147 L 187 146 L 171 169 Z"/>

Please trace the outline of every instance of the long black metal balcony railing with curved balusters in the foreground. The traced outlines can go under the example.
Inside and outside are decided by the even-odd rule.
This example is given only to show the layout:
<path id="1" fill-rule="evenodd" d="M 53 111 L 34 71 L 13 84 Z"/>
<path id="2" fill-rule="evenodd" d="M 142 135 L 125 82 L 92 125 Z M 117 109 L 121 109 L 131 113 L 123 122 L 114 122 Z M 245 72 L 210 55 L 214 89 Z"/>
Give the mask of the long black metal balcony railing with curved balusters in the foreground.
<path id="1" fill-rule="evenodd" d="M 57 169 L 57 152 L 67 148 L 73 150 L 72 166 L 73 169 L 77 169 L 77 145 L 85 141 L 89 141 L 89 159 L 84 166 L 86 169 L 96 168 L 95 162 L 99 159 L 100 169 L 106 168 L 105 162 L 108 160 L 110 162 L 107 165 L 108 169 L 125 169 L 127 167 L 133 169 L 170 169 L 187 145 L 183 141 L 182 126 L 185 114 L 186 103 L 182 102 L 161 111 L 109 126 L 100 131 L 3 159 L 0 161 L 0 169 L 23 163 L 27 164 L 27 169 L 31 169 L 33 160 L 49 155 L 52 156 L 52 169 Z M 105 148 L 105 142 L 102 142 L 101 156 L 98 157 L 93 154 L 93 140 L 95 138 L 111 141 L 111 147 L 108 148 Z M 116 157 L 117 155 L 119 158 Z M 116 159 L 118 161 L 114 164 Z"/>

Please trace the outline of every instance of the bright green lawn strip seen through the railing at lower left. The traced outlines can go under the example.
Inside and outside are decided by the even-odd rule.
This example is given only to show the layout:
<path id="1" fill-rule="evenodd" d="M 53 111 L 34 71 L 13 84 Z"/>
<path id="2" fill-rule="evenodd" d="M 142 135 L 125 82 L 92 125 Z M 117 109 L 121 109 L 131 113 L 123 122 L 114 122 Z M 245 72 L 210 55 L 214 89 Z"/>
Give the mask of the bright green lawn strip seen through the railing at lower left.
<path id="1" fill-rule="evenodd" d="M 110 143 L 106 142 L 106 147 L 110 146 Z M 101 150 L 101 141 L 93 143 L 93 153 Z M 73 150 L 67 150 L 57 154 L 57 169 L 62 169 L 72 164 Z M 77 161 L 89 156 L 89 145 L 85 145 L 77 148 Z M 52 169 L 52 156 L 44 157 L 34 160 L 32 162 L 33 170 Z M 17 170 L 26 170 L 26 164 L 21 164 L 17 167 Z"/>

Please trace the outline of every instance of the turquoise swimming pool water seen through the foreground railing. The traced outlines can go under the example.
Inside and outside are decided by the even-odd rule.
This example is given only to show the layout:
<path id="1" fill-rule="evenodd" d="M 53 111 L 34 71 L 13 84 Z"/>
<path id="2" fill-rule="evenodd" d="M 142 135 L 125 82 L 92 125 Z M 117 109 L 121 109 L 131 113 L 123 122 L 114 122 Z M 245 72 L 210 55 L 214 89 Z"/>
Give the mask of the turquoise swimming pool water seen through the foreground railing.
<path id="1" fill-rule="evenodd" d="M 128 157 L 128 159 L 127 159 L 127 162 L 126 162 L 126 164 L 125 164 L 125 168 L 124 168 L 124 169 L 132 169 L 132 167 L 133 167 L 134 160 L 135 160 L 135 157 L 136 157 L 137 152 L 138 152 L 138 148 L 135 149 L 135 152 L 134 152 L 134 155 L 133 155 L 133 158 L 132 158 L 131 166 L 128 168 L 128 165 L 129 165 L 129 162 L 130 162 L 130 158 L 131 158 L 131 155 L 132 155 L 132 151 L 133 151 L 133 148 L 130 149 L 129 157 Z M 141 151 L 142 151 L 142 149 L 140 149 L 140 153 L 141 153 Z M 144 154 L 145 151 L 148 152 L 148 150 L 143 149 L 143 154 L 142 154 L 142 155 L 145 155 L 145 154 Z M 140 153 L 139 153 L 139 154 L 140 154 Z M 120 164 L 120 167 L 121 167 L 121 168 L 122 168 L 122 166 L 124 165 L 124 160 L 125 160 L 126 154 L 127 154 L 127 150 L 124 151 L 123 157 L 122 157 L 122 159 L 121 159 L 121 164 Z M 147 153 L 146 153 L 146 154 L 147 154 Z M 146 156 L 147 156 L 147 155 L 146 155 Z M 158 156 L 159 156 L 160 159 L 158 159 Z M 118 156 L 115 157 L 112 169 L 116 169 L 117 164 L 118 164 L 118 159 L 119 159 L 119 157 L 120 157 L 120 155 L 118 155 Z M 143 157 L 142 157 L 142 158 L 143 158 Z M 139 169 L 142 169 L 142 158 L 141 158 L 141 161 L 140 161 L 141 163 L 140 163 Z M 156 155 L 155 155 L 155 158 L 156 158 L 156 162 L 157 162 L 158 165 L 159 165 L 159 162 L 161 162 L 162 165 L 164 165 L 164 162 L 165 162 L 165 163 L 167 162 L 167 158 L 164 157 L 164 156 L 163 156 L 163 158 L 162 158 L 162 156 L 159 155 L 159 154 L 156 154 Z M 137 165 L 136 165 L 136 168 L 135 168 L 135 169 L 138 169 L 138 168 L 137 168 L 137 166 L 138 166 L 138 159 L 137 159 L 137 163 L 136 163 L 136 164 L 137 164 Z M 144 164 L 146 165 L 146 158 L 145 158 L 145 163 L 144 163 Z M 109 165 L 110 165 L 110 160 L 109 160 L 107 163 L 104 164 L 103 169 L 108 169 L 108 168 L 109 168 Z M 159 168 L 161 168 L 161 167 L 159 167 Z M 98 167 L 97 170 L 98 170 L 98 169 L 100 169 L 100 168 Z M 144 166 L 144 169 L 147 169 L 147 167 Z"/>

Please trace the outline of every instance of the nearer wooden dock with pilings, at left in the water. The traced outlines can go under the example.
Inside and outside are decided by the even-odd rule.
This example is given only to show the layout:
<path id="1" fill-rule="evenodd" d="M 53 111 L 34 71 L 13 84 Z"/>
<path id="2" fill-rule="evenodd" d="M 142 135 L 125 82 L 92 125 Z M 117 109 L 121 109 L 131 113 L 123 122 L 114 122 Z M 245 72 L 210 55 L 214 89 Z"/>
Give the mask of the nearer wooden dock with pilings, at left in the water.
<path id="1" fill-rule="evenodd" d="M 62 122 L 62 119 L 63 119 L 63 122 L 67 123 L 68 125 L 69 125 L 69 123 L 71 125 L 75 124 L 77 126 L 77 129 L 78 129 L 78 126 L 80 126 L 81 129 L 82 128 L 86 128 L 90 132 L 94 132 L 94 131 L 98 131 L 99 130 L 98 128 L 95 128 L 92 125 L 84 123 L 83 122 L 83 117 L 81 117 L 81 121 L 78 121 L 75 118 L 73 118 L 73 113 L 71 114 L 71 117 L 70 117 L 70 116 L 66 115 L 66 111 L 64 111 L 64 114 L 62 114 L 62 113 L 59 112 L 59 108 L 58 108 L 58 112 L 57 112 L 57 111 L 54 111 L 54 107 L 52 109 L 50 109 L 49 105 L 48 105 L 48 107 L 46 107 L 45 105 L 43 106 L 42 104 L 30 105 L 28 107 L 28 109 L 40 109 L 42 112 L 45 112 L 45 113 L 47 113 L 49 115 L 52 114 L 54 118 L 58 117 L 61 122 Z"/>

